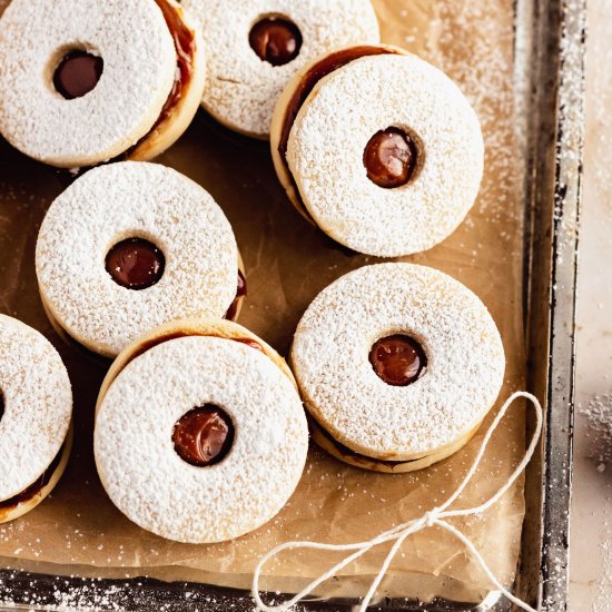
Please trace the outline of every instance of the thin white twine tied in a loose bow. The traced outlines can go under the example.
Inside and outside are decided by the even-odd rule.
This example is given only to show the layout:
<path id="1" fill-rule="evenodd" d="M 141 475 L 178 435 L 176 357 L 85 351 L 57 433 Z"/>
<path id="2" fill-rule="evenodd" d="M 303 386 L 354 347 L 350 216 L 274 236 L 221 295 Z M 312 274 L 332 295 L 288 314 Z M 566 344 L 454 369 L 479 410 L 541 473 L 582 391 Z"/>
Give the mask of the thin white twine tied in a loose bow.
<path id="1" fill-rule="evenodd" d="M 491 436 L 497 428 L 497 425 L 504 417 L 505 413 L 509 411 L 512 403 L 519 397 L 524 397 L 525 399 L 529 399 L 533 404 L 535 408 L 535 416 L 537 419 L 535 432 L 533 433 L 531 443 L 525 452 L 525 455 L 523 456 L 523 460 L 516 466 L 516 470 L 514 470 L 514 472 L 509 477 L 509 480 L 486 502 L 474 507 L 462 509 L 462 510 L 447 510 L 460 497 L 464 488 L 467 486 L 467 484 L 476 473 L 476 470 L 478 468 L 478 465 L 482 461 L 482 457 L 491 440 Z M 352 563 L 353 561 L 355 561 L 356 559 L 365 554 L 367 551 L 369 551 L 374 546 L 378 546 L 379 544 L 384 544 L 386 542 L 395 541 L 383 565 L 381 566 L 381 570 L 378 571 L 378 573 L 376 574 L 376 578 L 372 582 L 372 585 L 369 586 L 367 594 L 362 601 L 362 604 L 359 606 L 359 612 L 365 612 L 369 605 L 369 602 L 372 601 L 372 598 L 376 593 L 376 590 L 378 589 L 383 578 L 387 573 L 387 570 L 393 559 L 395 557 L 395 555 L 397 554 L 397 551 L 399 550 L 404 541 L 408 537 L 408 535 L 412 535 L 413 533 L 417 533 L 424 529 L 437 525 L 438 527 L 442 527 L 446 530 L 448 533 L 453 534 L 457 540 L 460 540 L 465 545 L 470 554 L 477 561 L 478 565 L 482 567 L 483 572 L 486 574 L 488 580 L 495 585 L 495 588 L 501 593 L 505 595 L 505 598 L 507 598 L 512 603 L 514 603 L 515 605 L 517 605 L 523 610 L 527 610 L 529 612 L 536 612 L 531 605 L 526 604 L 524 601 L 514 596 L 507 589 L 505 589 L 500 583 L 500 581 L 495 578 L 495 575 L 493 574 L 493 572 L 484 561 L 481 553 L 476 550 L 476 546 L 473 544 L 473 542 L 466 535 L 464 535 L 461 531 L 458 531 L 456 527 L 447 523 L 445 519 L 450 519 L 453 516 L 468 516 L 472 514 L 481 514 L 486 510 L 488 510 L 492 505 L 497 503 L 500 497 L 502 497 L 502 495 L 504 495 L 504 493 L 506 493 L 511 488 L 511 486 L 514 484 L 516 478 L 522 474 L 522 472 L 527 466 L 531 457 L 533 456 L 535 452 L 535 446 L 537 445 L 537 441 L 540 440 L 540 434 L 542 433 L 542 419 L 543 419 L 542 406 L 540 405 L 540 402 L 535 396 L 533 396 L 531 393 L 526 393 L 522 391 L 513 393 L 506 399 L 506 402 L 497 413 L 497 416 L 488 427 L 488 431 L 486 432 L 486 435 L 483 438 L 483 442 L 481 444 L 476 458 L 472 464 L 472 467 L 463 478 L 462 483 L 457 486 L 456 491 L 441 506 L 434 507 L 433 510 L 426 512 L 421 519 L 415 519 L 413 521 L 408 521 L 406 523 L 397 525 L 396 527 L 385 531 L 379 535 L 373 537 L 372 540 L 368 540 L 367 542 L 358 542 L 355 544 L 324 544 L 320 542 L 307 542 L 307 541 L 285 542 L 284 544 L 280 544 L 279 546 L 276 546 L 275 549 L 269 551 L 259 560 L 259 563 L 257 564 L 257 567 L 255 569 L 255 573 L 253 575 L 251 594 L 255 600 L 255 603 L 257 604 L 257 610 L 260 612 L 287 611 L 292 606 L 294 606 L 296 603 L 304 600 L 319 584 L 322 584 L 326 580 L 336 575 L 336 573 L 339 570 L 342 570 L 343 567 L 345 567 L 346 565 L 348 565 L 349 563 Z M 306 585 L 299 593 L 297 593 L 297 595 L 292 598 L 289 601 L 286 601 L 279 605 L 267 605 L 261 601 L 261 598 L 259 596 L 259 576 L 261 574 L 261 569 L 273 556 L 276 556 L 278 553 L 283 551 L 293 550 L 293 549 L 313 549 L 318 551 L 355 551 L 355 552 L 346 556 L 343 561 L 334 565 L 330 570 L 322 574 L 319 578 L 313 580 L 308 585 Z"/>

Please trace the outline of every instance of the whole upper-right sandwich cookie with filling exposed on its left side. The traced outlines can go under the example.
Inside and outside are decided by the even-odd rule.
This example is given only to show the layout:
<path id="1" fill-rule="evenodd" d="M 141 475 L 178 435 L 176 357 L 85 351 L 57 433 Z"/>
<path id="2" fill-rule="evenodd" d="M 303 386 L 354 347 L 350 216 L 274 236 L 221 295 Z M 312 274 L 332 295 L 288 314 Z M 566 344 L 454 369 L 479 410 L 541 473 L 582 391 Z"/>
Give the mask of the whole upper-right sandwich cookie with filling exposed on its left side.
<path id="1" fill-rule="evenodd" d="M 294 206 L 334 240 L 381 257 L 452 234 L 483 174 L 463 93 L 394 47 L 345 48 L 302 69 L 276 105 L 270 145 Z"/>

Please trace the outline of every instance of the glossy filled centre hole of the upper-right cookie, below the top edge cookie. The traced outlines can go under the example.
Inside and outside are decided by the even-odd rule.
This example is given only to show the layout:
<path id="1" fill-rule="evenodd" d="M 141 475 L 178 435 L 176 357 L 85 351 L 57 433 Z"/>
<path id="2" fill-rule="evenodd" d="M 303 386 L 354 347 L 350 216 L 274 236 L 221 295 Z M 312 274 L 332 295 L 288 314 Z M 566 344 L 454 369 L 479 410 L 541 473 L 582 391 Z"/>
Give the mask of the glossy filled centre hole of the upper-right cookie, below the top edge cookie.
<path id="1" fill-rule="evenodd" d="M 395 189 L 416 178 L 423 166 L 423 146 L 412 131 L 389 126 L 377 131 L 364 149 L 367 178 L 384 189 Z"/>

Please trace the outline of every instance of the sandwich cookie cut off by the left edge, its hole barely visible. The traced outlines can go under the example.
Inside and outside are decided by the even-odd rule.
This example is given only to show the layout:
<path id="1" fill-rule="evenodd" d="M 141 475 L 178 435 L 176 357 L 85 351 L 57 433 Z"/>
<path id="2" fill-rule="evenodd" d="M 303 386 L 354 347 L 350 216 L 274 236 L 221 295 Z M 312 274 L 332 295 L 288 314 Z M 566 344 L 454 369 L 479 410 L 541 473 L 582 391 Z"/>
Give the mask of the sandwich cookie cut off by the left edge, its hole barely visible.
<path id="1" fill-rule="evenodd" d="M 0 523 L 36 507 L 58 483 L 72 445 L 72 391 L 49 340 L 0 315 Z"/>

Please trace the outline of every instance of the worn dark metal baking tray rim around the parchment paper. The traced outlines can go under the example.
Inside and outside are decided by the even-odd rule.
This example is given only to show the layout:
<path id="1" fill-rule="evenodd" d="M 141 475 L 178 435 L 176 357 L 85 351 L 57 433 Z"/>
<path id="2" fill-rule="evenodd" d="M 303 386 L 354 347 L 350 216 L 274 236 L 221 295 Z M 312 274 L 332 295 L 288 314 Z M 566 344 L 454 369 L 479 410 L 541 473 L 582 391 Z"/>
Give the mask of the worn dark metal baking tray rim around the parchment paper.
<path id="1" fill-rule="evenodd" d="M 541 610 L 567 609 L 572 484 L 574 316 L 583 142 L 585 0 L 515 1 L 519 146 L 524 159 L 524 317 L 527 389 L 543 401 L 545 430 L 525 478 L 526 515 L 515 593 Z M 526 424 L 527 430 L 532 426 Z M 79 610 L 254 608 L 249 594 L 150 579 L 85 580 L 0 569 L 11 610 L 57 609 L 79 589 Z M 87 589 L 83 590 L 83 586 Z M 185 592 L 189 592 L 189 602 Z M 329 601 L 305 610 L 347 611 Z M 0 605 L 1 608 L 1 605 Z M 480 604 L 436 600 L 426 606 L 386 600 L 373 610 L 511 610 L 496 593 Z M 7 608 L 8 610 L 8 608 Z"/>

